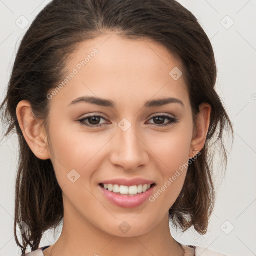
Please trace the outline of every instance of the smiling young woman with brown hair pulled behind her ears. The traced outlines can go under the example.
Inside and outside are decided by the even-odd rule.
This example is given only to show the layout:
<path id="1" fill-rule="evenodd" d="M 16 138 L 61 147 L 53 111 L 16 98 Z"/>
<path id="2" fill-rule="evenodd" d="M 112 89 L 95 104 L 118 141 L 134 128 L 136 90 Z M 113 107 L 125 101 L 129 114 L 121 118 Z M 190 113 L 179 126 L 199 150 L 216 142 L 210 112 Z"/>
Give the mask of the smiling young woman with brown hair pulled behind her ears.
<path id="1" fill-rule="evenodd" d="M 53 0 L 12 70 L 6 135 L 20 161 L 14 226 L 26 255 L 223 255 L 175 241 L 207 231 L 212 143 L 232 126 L 212 46 L 174 0 Z M 58 240 L 39 247 L 63 220 Z"/>

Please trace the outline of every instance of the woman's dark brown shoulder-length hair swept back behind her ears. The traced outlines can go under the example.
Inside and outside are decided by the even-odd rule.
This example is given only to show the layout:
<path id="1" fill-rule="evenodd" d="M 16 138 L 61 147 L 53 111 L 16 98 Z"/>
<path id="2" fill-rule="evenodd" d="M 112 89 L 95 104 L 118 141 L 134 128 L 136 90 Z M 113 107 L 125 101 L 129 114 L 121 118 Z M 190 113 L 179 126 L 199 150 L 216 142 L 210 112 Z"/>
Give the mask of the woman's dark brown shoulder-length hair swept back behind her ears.
<path id="1" fill-rule="evenodd" d="M 28 245 L 32 250 L 37 249 L 43 232 L 59 225 L 63 201 L 51 160 L 37 158 L 23 137 L 16 106 L 19 101 L 28 100 L 35 117 L 46 120 L 49 113 L 46 95 L 65 77 L 68 56 L 79 42 L 107 30 L 131 39 L 150 38 L 181 59 L 194 121 L 202 102 L 211 105 L 205 145 L 200 156 L 189 165 L 183 188 L 169 209 L 176 227 L 185 231 L 193 226 L 200 234 L 207 231 L 215 202 L 210 168 L 213 154 L 209 145 L 220 143 L 226 162 L 223 131 L 228 125 L 233 136 L 233 129 L 214 89 L 217 72 L 214 53 L 199 22 L 175 0 L 53 0 L 37 15 L 23 37 L 0 106 L 2 119 L 8 123 L 5 136 L 15 128 L 20 145 L 14 234 L 22 253 Z M 16 234 L 16 225 L 21 221 L 29 227 L 22 233 L 22 245 Z"/>

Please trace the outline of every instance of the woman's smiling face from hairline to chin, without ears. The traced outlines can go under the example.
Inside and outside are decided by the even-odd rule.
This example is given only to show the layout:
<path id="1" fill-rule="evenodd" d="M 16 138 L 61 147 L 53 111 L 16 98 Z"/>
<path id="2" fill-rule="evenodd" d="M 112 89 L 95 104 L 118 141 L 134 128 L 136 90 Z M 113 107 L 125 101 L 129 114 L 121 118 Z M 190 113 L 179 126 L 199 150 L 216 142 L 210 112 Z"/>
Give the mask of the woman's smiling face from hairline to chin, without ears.
<path id="1" fill-rule="evenodd" d="M 166 217 L 191 154 L 192 113 L 182 71 L 152 41 L 109 33 L 80 43 L 62 86 L 48 94 L 50 159 L 64 217 L 117 236 L 143 234 Z M 155 101 L 167 98 L 174 100 Z M 114 191 L 119 184 L 122 193 L 137 194 L 107 191 L 100 184 L 108 182 Z M 139 184 L 154 185 L 143 194 Z"/>

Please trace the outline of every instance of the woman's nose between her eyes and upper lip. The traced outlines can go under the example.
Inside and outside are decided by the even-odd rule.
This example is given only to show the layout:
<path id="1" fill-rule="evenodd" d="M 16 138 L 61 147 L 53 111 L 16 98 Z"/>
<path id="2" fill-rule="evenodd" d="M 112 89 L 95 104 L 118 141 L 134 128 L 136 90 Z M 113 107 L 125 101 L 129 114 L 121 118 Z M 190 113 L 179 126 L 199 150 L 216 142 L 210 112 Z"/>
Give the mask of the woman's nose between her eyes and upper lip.
<path id="1" fill-rule="evenodd" d="M 111 144 L 110 161 L 116 167 L 125 170 L 135 170 L 146 165 L 149 150 L 144 142 L 145 136 L 141 135 L 135 127 L 131 125 L 126 131 L 117 127 L 117 133 Z"/>

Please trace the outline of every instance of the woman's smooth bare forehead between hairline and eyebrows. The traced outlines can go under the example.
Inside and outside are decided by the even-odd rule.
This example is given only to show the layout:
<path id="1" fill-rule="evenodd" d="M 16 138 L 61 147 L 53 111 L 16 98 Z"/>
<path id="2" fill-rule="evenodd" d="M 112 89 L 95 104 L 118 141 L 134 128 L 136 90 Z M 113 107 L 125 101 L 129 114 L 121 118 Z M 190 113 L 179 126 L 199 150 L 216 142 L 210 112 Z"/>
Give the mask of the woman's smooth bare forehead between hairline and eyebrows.
<path id="1" fill-rule="evenodd" d="M 73 73 L 72 78 L 55 99 L 62 97 L 68 105 L 77 97 L 94 96 L 112 99 L 118 106 L 168 96 L 187 104 L 182 69 L 178 59 L 152 40 L 108 33 L 79 43 L 67 62 L 67 76 Z"/>

